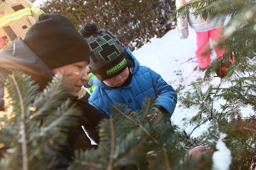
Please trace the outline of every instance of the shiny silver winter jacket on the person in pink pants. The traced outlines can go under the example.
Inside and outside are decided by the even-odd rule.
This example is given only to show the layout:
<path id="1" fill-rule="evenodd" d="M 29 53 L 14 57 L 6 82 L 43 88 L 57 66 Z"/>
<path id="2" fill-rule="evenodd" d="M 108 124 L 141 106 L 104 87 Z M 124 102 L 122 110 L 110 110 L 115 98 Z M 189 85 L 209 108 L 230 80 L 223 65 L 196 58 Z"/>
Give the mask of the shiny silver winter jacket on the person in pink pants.
<path id="1" fill-rule="evenodd" d="M 176 0 L 176 8 L 178 9 L 183 4 L 189 2 L 191 0 Z M 224 25 L 226 16 L 224 15 L 215 15 L 214 17 L 208 15 L 207 20 L 205 21 L 200 16 L 195 18 L 192 13 L 195 12 L 196 9 L 191 8 L 189 10 L 189 14 L 184 19 L 177 18 L 177 28 L 179 32 L 179 37 L 181 39 L 188 37 L 188 24 L 189 26 L 196 32 L 205 32 L 209 30 L 213 30 L 219 28 Z"/>

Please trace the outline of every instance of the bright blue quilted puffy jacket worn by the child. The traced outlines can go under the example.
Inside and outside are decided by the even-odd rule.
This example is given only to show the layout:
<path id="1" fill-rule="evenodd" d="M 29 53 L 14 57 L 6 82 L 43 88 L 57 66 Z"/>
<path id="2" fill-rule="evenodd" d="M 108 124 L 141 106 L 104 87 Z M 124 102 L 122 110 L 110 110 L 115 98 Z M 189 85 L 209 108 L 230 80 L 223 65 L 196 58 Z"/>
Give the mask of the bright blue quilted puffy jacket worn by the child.
<path id="1" fill-rule="evenodd" d="M 132 80 L 128 86 L 112 88 L 94 77 L 97 85 L 89 98 L 89 103 L 108 116 L 110 106 L 114 103 L 126 103 L 132 111 L 142 108 L 145 97 L 157 97 L 158 105 L 162 106 L 172 116 L 177 94 L 171 85 L 168 85 L 155 71 L 140 63 L 124 46 L 126 52 L 133 58 L 135 67 L 132 68 Z"/>

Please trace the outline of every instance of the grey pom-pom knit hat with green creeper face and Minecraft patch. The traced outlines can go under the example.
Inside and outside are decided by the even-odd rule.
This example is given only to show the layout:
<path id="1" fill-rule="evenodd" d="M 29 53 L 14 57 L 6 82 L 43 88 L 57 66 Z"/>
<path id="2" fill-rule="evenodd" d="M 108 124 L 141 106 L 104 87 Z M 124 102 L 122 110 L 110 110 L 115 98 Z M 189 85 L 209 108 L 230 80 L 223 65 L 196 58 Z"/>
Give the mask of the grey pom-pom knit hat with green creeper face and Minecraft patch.
<path id="1" fill-rule="evenodd" d="M 95 22 L 86 22 L 80 33 L 90 47 L 89 69 L 99 81 L 113 78 L 126 69 L 127 53 L 116 35 L 99 30 Z"/>

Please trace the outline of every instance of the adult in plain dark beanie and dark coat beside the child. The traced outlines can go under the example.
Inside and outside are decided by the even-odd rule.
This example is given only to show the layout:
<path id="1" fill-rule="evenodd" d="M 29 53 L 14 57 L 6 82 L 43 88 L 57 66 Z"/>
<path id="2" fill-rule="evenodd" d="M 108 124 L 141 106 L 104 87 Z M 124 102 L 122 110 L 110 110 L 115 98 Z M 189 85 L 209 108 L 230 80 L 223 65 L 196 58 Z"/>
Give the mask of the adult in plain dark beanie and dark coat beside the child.
<path id="1" fill-rule="evenodd" d="M 67 81 L 73 83 L 77 93 L 83 82 L 89 80 L 85 69 L 90 60 L 89 53 L 86 40 L 69 18 L 58 14 L 41 14 L 27 31 L 24 40 L 17 37 L 0 51 L 0 110 L 4 110 L 3 86 L 6 76 L 15 70 L 31 75 L 40 85 L 40 91 L 51 82 L 56 72 L 64 71 L 66 74 L 72 74 L 73 79 Z M 66 145 L 58 150 L 58 164 L 54 169 L 67 169 L 74 156 L 74 150 L 93 147 L 82 126 L 90 138 L 98 143 L 99 136 L 95 127 L 102 118 L 108 118 L 88 102 L 76 100 L 77 97 L 73 93 L 70 98 L 82 109 L 83 115 L 75 116 L 77 125 L 68 129 Z M 0 149 L 0 158 L 5 149 Z"/>

